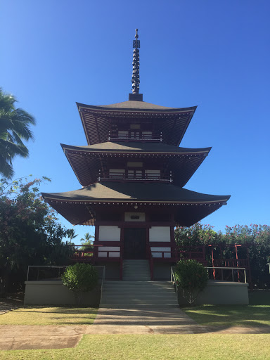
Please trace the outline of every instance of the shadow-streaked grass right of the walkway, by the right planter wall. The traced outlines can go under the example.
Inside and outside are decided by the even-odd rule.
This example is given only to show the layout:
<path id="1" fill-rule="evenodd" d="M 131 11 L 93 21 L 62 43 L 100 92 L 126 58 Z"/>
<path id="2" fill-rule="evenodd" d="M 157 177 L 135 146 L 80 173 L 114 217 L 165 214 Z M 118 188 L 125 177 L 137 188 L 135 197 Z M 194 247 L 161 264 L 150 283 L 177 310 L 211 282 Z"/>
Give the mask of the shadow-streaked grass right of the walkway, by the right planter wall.
<path id="1" fill-rule="evenodd" d="M 200 305 L 182 310 L 204 326 L 270 326 L 270 291 L 250 293 L 249 305 Z"/>

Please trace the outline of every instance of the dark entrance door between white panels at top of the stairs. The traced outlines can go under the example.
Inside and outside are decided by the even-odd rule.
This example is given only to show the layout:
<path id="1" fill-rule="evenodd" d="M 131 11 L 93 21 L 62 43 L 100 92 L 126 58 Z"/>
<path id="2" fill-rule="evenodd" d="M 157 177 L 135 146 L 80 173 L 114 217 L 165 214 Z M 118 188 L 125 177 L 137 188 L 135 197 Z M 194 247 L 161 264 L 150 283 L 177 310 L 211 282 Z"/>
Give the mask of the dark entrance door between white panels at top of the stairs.
<path id="1" fill-rule="evenodd" d="M 146 259 L 146 229 L 124 229 L 124 259 Z"/>

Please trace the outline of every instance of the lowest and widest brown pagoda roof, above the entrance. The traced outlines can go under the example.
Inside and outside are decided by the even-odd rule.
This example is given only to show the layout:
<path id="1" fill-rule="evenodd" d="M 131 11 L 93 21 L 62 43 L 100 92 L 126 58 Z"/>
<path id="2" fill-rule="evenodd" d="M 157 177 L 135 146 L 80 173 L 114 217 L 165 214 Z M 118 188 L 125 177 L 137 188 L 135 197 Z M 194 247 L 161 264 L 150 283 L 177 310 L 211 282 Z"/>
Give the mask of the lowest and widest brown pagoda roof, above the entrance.
<path id="1" fill-rule="evenodd" d="M 208 195 L 172 184 L 97 183 L 65 193 L 42 193 L 57 212 L 73 225 L 94 225 L 98 212 L 172 212 L 179 226 L 191 226 L 226 205 L 230 195 Z"/>

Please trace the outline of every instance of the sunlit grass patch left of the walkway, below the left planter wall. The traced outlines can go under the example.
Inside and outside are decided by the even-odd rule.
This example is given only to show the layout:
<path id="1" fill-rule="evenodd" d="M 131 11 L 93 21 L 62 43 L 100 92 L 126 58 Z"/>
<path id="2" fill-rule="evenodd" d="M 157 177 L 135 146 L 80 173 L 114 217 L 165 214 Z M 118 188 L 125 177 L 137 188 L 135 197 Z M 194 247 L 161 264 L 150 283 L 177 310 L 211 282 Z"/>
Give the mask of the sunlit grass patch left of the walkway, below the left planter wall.
<path id="1" fill-rule="evenodd" d="M 0 315 L 0 325 L 91 325 L 97 311 L 92 307 L 25 306 Z"/>

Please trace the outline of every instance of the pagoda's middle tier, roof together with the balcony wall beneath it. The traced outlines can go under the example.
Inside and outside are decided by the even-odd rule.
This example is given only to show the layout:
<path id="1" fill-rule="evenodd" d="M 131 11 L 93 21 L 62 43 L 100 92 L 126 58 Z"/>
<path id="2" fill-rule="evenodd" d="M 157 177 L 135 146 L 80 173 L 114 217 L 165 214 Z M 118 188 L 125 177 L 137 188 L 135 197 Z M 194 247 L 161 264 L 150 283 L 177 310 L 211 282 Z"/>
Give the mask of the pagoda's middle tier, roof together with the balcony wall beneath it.
<path id="1" fill-rule="evenodd" d="M 178 148 L 165 143 L 61 144 L 82 186 L 97 181 L 159 181 L 184 186 L 211 148 Z"/>

